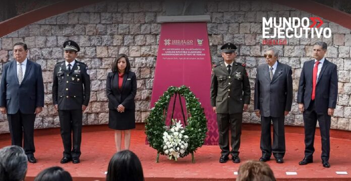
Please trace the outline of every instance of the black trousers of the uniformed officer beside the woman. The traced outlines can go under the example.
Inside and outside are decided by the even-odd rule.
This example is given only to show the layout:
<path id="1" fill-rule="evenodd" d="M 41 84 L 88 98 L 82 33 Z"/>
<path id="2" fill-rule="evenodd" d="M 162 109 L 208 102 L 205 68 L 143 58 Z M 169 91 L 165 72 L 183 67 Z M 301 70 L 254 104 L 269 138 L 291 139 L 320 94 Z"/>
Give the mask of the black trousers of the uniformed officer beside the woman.
<path id="1" fill-rule="evenodd" d="M 61 138 L 64 143 L 64 156 L 68 158 L 80 157 L 80 146 L 82 142 L 82 109 L 59 110 L 59 118 Z"/>

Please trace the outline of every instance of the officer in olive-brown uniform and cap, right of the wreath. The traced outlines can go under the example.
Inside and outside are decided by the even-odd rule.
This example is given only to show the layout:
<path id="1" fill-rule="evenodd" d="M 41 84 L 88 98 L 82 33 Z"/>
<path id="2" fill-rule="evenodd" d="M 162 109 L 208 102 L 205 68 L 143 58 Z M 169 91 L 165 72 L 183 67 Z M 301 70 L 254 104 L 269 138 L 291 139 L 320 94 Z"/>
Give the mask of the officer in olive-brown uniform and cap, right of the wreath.
<path id="1" fill-rule="evenodd" d="M 246 111 L 250 104 L 250 83 L 245 65 L 234 62 L 237 47 L 226 43 L 220 49 L 224 61 L 213 66 L 211 78 L 211 104 L 217 114 L 219 147 L 222 150 L 219 162 L 225 163 L 230 153 L 232 161 L 240 163 L 243 111 Z"/>

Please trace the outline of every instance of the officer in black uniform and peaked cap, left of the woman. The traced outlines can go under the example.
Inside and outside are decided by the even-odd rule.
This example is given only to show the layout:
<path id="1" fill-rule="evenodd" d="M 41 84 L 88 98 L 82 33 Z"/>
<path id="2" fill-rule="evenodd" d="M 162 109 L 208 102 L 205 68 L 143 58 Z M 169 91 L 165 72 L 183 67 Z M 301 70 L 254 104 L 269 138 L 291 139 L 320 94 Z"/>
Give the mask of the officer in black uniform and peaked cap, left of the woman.
<path id="1" fill-rule="evenodd" d="M 55 65 L 53 71 L 52 100 L 59 111 L 64 157 L 61 163 L 79 163 L 82 140 L 82 112 L 90 99 L 88 66 L 75 60 L 80 50 L 72 40 L 64 43 L 66 61 Z M 71 136 L 72 132 L 72 136 Z"/>

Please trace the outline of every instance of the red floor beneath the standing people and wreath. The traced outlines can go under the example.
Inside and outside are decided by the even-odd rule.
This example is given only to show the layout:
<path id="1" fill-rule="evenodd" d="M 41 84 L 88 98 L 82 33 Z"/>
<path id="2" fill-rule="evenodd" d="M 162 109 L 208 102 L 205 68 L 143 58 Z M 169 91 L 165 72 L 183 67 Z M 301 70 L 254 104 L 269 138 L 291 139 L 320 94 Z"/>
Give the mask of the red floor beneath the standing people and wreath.
<path id="1" fill-rule="evenodd" d="M 261 156 L 260 131 L 257 126 L 246 125 L 243 131 L 240 148 L 242 162 Z M 250 128 L 250 129 L 248 129 Z M 298 131 L 296 131 L 298 129 Z M 331 138 L 330 168 L 321 164 L 321 141 L 316 136 L 314 163 L 301 166 L 299 161 L 304 157 L 304 135 L 299 134 L 303 128 L 287 128 L 286 154 L 284 163 L 267 163 L 273 169 L 277 180 L 351 180 L 351 140 L 349 132 L 336 132 L 338 138 Z M 290 131 L 289 131 L 290 130 Z M 292 130 L 292 131 L 291 131 Z M 295 130 L 295 131 L 294 131 Z M 319 130 L 317 130 L 319 132 Z M 340 136 L 341 135 L 341 136 Z M 218 146 L 203 146 L 195 153 L 196 163 L 191 162 L 191 155 L 178 162 L 167 160 L 160 155 L 159 163 L 155 163 L 156 151 L 145 145 L 145 133 L 142 130 L 132 132 L 131 150 L 135 152 L 143 166 L 145 180 L 235 180 L 233 172 L 238 171 L 239 164 L 228 161 L 218 162 L 220 149 Z M 0 135 L 0 147 L 10 145 L 9 134 Z M 59 129 L 35 131 L 35 157 L 37 163 L 29 163 L 26 180 L 33 180 L 44 168 L 59 165 L 68 170 L 74 180 L 105 180 L 104 172 L 108 161 L 115 152 L 113 130 L 107 126 L 89 126 L 83 128 L 82 156 L 80 164 L 61 164 L 63 146 Z M 271 157 L 273 158 L 273 156 Z M 286 175 L 286 171 L 296 171 L 297 175 Z M 347 171 L 347 175 L 338 175 L 335 171 Z"/>

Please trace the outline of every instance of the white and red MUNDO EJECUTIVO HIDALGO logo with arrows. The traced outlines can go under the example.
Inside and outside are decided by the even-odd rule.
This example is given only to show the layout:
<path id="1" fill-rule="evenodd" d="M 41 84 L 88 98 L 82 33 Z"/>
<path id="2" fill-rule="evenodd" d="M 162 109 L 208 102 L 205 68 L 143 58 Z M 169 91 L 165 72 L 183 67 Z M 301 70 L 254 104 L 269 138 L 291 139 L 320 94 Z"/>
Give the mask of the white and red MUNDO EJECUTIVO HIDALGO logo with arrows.
<path id="1" fill-rule="evenodd" d="M 262 44 L 284 45 L 286 38 L 330 38 L 331 29 L 321 27 L 319 17 L 262 18 Z"/>

